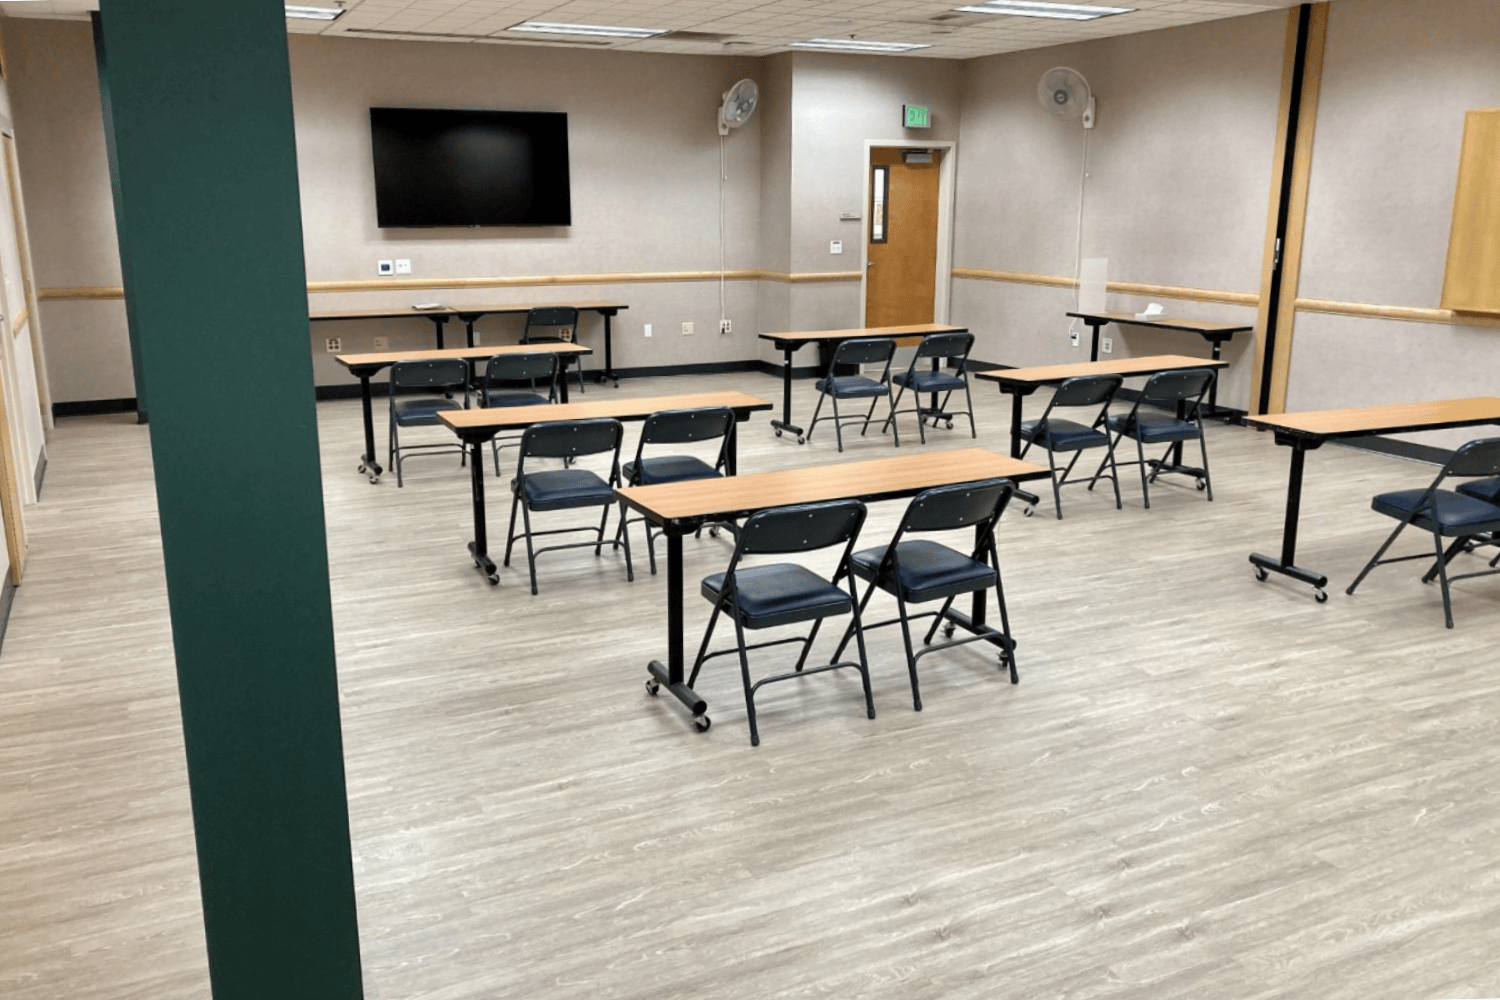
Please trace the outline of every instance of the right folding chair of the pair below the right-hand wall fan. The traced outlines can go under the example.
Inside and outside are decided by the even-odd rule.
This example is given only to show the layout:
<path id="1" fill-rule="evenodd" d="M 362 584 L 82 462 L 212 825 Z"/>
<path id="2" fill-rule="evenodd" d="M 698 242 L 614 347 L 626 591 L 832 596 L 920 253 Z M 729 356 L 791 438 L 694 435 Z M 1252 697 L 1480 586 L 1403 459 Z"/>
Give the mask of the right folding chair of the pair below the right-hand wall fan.
<path id="1" fill-rule="evenodd" d="M 1156 372 L 1146 379 L 1146 385 L 1142 387 L 1140 396 L 1128 414 L 1116 414 L 1108 418 L 1108 429 L 1114 432 L 1116 445 L 1120 438 L 1136 441 L 1136 462 L 1120 462 L 1119 465 L 1140 466 L 1140 495 L 1146 510 L 1150 510 L 1150 487 L 1148 484 L 1155 483 L 1158 475 L 1167 472 L 1191 475 L 1197 487 L 1206 490 L 1210 501 L 1214 499 L 1214 483 L 1209 480 L 1209 445 L 1203 438 L 1203 397 L 1208 396 L 1212 385 L 1214 369 Z M 1156 408 L 1172 412 L 1167 417 L 1144 412 Z M 1203 456 L 1202 468 L 1182 465 L 1182 444 L 1194 438 L 1198 441 L 1198 454 Z M 1148 445 L 1162 444 L 1167 445 L 1167 450 L 1160 459 L 1146 457 Z M 1150 475 L 1146 475 L 1148 466 Z"/>

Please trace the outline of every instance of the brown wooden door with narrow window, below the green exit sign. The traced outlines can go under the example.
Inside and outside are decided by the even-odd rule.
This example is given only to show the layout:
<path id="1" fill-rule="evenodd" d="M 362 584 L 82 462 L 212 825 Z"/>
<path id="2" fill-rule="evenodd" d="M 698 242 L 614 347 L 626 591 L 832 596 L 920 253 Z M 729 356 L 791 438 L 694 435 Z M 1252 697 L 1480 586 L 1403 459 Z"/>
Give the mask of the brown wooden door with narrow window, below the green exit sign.
<path id="1" fill-rule="evenodd" d="M 933 150 L 930 163 L 904 163 L 900 148 L 870 150 L 872 204 L 864 247 L 867 327 L 933 321 L 942 153 Z"/>

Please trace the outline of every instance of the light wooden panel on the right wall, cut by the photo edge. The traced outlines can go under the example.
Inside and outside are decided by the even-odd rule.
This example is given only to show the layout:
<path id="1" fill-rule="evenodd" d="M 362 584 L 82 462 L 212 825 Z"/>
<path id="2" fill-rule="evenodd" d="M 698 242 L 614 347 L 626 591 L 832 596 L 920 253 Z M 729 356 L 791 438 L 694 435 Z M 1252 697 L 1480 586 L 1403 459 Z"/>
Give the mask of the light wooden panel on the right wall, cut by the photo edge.
<path id="1" fill-rule="evenodd" d="M 1500 108 L 1464 115 L 1443 309 L 1500 313 Z"/>

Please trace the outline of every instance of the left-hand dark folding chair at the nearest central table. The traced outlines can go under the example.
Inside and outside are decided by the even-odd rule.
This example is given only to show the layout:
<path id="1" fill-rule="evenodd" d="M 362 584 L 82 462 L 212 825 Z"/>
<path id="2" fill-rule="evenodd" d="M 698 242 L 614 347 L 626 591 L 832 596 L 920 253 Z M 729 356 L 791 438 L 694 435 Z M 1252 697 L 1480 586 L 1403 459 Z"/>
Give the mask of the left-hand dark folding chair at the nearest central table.
<path id="1" fill-rule="evenodd" d="M 740 541 L 735 553 L 729 558 L 729 568 L 723 573 L 704 577 L 702 592 L 714 604 L 714 613 L 708 619 L 704 631 L 704 642 L 698 649 L 698 660 L 693 663 L 693 673 L 687 685 L 693 687 L 698 672 L 704 663 L 729 652 L 740 654 L 740 676 L 746 688 L 746 714 L 750 718 L 750 745 L 760 745 L 760 730 L 756 727 L 754 693 L 765 684 L 776 681 L 790 681 L 792 678 L 810 676 L 825 670 L 854 667 L 860 672 L 864 684 L 864 708 L 870 718 L 874 718 L 874 697 L 870 693 L 870 669 L 864 655 L 864 636 L 860 631 L 860 609 L 854 600 L 854 579 L 849 577 L 849 555 L 854 550 L 855 538 L 864 525 L 864 504 L 854 499 L 831 501 L 826 504 L 802 504 L 796 507 L 772 507 L 756 511 L 746 519 L 740 529 Z M 842 546 L 838 565 L 832 577 L 824 579 L 818 573 L 795 562 L 772 562 L 762 565 L 741 565 L 746 556 L 756 555 L 790 555 L 818 552 Z M 849 589 L 840 586 L 840 580 L 849 580 Z M 714 625 L 720 613 L 728 615 L 735 622 L 735 649 L 708 651 L 708 643 L 714 636 Z M 836 661 L 820 667 L 806 669 L 807 652 L 813 648 L 818 628 L 825 618 L 834 615 L 854 615 L 854 636 L 860 649 L 860 660 Z M 746 645 L 747 628 L 776 628 L 780 625 L 796 625 L 813 622 L 807 636 L 792 636 L 771 642 Z M 752 649 L 765 649 L 784 643 L 802 643 L 802 652 L 796 658 L 796 666 L 790 673 L 778 673 L 750 681 Z"/>

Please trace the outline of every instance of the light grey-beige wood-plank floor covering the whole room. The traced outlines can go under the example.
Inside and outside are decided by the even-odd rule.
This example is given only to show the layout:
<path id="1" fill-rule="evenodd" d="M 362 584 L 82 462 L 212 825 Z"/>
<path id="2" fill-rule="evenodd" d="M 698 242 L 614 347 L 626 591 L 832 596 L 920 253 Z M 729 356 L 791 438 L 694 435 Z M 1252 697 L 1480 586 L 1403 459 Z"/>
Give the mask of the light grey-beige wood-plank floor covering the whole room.
<path id="1" fill-rule="evenodd" d="M 754 375 L 586 399 L 704 388 L 780 399 Z M 978 396 L 1004 450 L 1008 400 Z M 358 405 L 320 421 L 366 997 L 1500 996 L 1500 579 L 1455 585 L 1454 631 L 1419 564 L 1342 592 L 1390 528 L 1370 496 L 1430 466 L 1308 457 L 1317 604 L 1245 559 L 1280 550 L 1287 451 L 1214 426 L 1212 504 L 1162 481 L 1143 510 L 1130 472 L 1122 511 L 1070 487 L 1066 520 L 1006 514 L 1020 685 L 939 652 L 916 714 L 884 630 L 876 720 L 849 672 L 772 685 L 753 750 L 730 661 L 699 682 L 705 735 L 646 696 L 664 579 L 639 532 L 634 583 L 572 550 L 540 597 L 524 562 L 488 586 L 465 469 L 370 486 Z M 0 658 L 0 997 L 206 997 L 147 432 L 63 420 L 50 453 Z M 741 469 L 890 453 L 759 414 Z M 686 547 L 696 643 L 692 580 L 729 546 Z"/>

